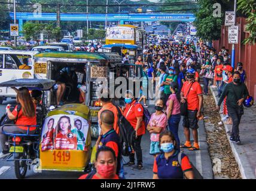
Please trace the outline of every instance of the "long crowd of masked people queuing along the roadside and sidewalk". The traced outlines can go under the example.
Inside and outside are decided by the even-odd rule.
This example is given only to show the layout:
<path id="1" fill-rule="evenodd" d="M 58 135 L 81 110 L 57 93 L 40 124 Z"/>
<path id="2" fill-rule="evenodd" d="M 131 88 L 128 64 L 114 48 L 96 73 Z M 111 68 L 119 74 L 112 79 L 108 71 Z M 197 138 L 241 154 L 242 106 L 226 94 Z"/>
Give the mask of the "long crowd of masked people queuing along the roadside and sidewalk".
<path id="1" fill-rule="evenodd" d="M 203 43 L 200 43 L 200 51 L 196 52 L 193 41 L 179 44 L 170 42 L 160 47 L 149 46 L 143 52 L 145 61 L 138 57 L 136 64 L 142 65 L 143 77 L 151 77 L 156 93 L 160 94 L 160 99 L 155 102 L 155 112 L 146 122 L 146 80 L 142 82 L 142 95 L 138 99 L 132 91 L 126 92 L 126 105 L 123 108 L 114 106 L 110 98 L 101 98 L 103 107 L 99 112 L 99 126 L 102 132 L 96 143 L 96 171 L 81 178 L 124 178 L 124 166 L 132 167 L 132 170 L 143 170 L 141 141 L 146 131 L 150 133 L 150 155 L 154 157 L 153 178 L 195 178 L 193 166 L 188 156 L 181 153 L 181 149 L 200 149 L 198 122 L 203 119 L 203 94 L 209 95 L 210 81 L 212 87 L 218 88 L 220 101 L 217 109 L 220 109 L 220 104 L 225 99 L 223 112 L 227 112 L 233 122 L 230 140 L 240 143 L 242 103 L 248 96 L 243 83 L 246 75 L 242 63 L 237 64 L 236 71 L 230 66 L 230 56 L 225 47 L 217 54 Z M 203 90 L 200 78 L 203 79 Z M 144 103 L 140 104 L 142 100 Z M 133 152 L 129 154 L 129 162 L 125 164 L 120 156 L 121 145 L 118 141 L 121 138 L 118 110 L 135 130 Z M 181 116 L 185 143 L 180 143 L 178 135 Z M 190 142 L 190 134 L 193 135 L 193 144 Z"/>

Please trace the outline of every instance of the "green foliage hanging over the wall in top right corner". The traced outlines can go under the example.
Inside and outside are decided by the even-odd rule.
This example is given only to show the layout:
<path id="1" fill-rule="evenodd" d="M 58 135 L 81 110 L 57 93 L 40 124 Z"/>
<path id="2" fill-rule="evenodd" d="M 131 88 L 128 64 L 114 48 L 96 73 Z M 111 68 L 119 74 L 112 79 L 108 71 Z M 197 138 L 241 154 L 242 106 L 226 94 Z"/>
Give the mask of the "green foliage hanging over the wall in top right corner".
<path id="1" fill-rule="evenodd" d="M 246 19 L 246 30 L 249 32 L 249 37 L 246 38 L 244 44 L 255 44 L 256 41 L 256 2 L 255 0 L 238 0 L 237 10 L 242 11 Z"/>

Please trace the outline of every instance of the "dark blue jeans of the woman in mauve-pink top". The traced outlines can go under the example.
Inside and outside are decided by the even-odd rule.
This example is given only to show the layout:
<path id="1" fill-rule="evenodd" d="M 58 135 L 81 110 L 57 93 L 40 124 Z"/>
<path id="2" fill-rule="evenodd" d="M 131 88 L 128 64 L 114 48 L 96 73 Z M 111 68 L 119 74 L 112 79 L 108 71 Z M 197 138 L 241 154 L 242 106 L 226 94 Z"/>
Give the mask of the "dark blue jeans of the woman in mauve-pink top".
<path id="1" fill-rule="evenodd" d="M 180 113 L 177 115 L 171 115 L 168 120 L 169 130 L 170 132 L 172 132 L 172 134 L 175 137 L 177 150 L 179 150 L 179 135 L 178 135 L 179 121 L 181 121 Z"/>

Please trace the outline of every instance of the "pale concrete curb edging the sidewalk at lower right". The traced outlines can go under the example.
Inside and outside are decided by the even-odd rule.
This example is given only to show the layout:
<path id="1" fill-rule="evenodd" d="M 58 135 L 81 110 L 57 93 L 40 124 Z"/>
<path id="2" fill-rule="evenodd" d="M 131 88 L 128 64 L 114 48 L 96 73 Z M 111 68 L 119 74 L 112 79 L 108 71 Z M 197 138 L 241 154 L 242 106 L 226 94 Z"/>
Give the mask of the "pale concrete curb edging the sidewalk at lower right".
<path id="1" fill-rule="evenodd" d="M 217 88 L 214 88 L 217 90 Z M 217 97 L 214 93 L 214 90 L 213 88 L 210 87 L 210 90 L 212 92 L 212 96 L 214 97 L 214 100 L 215 100 L 215 103 L 216 105 L 218 104 L 218 100 L 217 100 Z M 221 106 L 221 109 L 223 108 L 223 105 Z M 220 114 L 221 118 L 224 117 L 224 115 L 221 113 Z M 227 125 L 227 124 L 224 124 L 224 127 L 225 127 L 225 132 L 227 133 L 227 131 L 230 129 L 228 128 L 228 126 L 231 127 L 231 125 Z M 242 175 L 242 178 L 243 179 L 255 179 L 255 175 L 254 173 L 252 172 L 251 168 L 247 167 L 246 165 L 249 164 L 248 162 L 248 159 L 246 158 L 245 155 L 242 155 L 241 152 L 242 150 L 239 148 L 239 146 L 237 146 L 236 144 L 232 143 L 230 141 L 230 135 L 227 135 L 228 137 L 228 141 L 230 143 L 230 147 L 231 147 L 231 150 L 233 152 L 233 155 L 234 155 L 234 158 L 236 159 L 236 162 L 238 164 L 238 167 L 239 167 L 239 170 L 240 170 L 240 174 Z"/>

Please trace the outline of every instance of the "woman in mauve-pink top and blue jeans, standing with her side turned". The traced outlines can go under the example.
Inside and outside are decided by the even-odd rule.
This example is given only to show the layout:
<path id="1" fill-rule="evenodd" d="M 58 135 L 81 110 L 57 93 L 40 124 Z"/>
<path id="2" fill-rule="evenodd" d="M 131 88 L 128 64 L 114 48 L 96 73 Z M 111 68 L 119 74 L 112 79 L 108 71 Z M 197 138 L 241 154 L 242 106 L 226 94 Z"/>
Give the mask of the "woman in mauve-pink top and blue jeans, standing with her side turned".
<path id="1" fill-rule="evenodd" d="M 166 102 L 166 113 L 167 113 L 167 120 L 168 120 L 168 127 L 172 134 L 175 136 L 177 141 L 177 148 L 179 150 L 179 135 L 178 135 L 178 128 L 179 128 L 179 121 L 181 121 L 181 96 L 179 94 L 178 85 L 175 82 L 170 84 L 170 94 L 167 102 Z"/>

